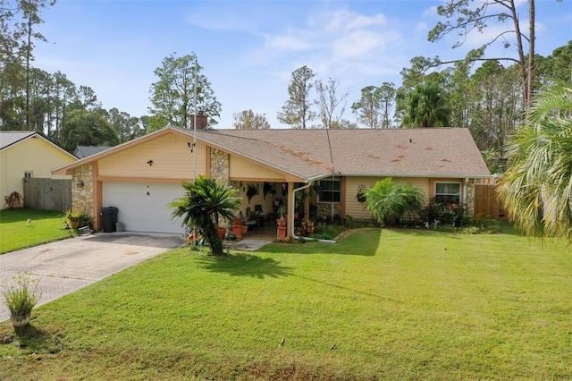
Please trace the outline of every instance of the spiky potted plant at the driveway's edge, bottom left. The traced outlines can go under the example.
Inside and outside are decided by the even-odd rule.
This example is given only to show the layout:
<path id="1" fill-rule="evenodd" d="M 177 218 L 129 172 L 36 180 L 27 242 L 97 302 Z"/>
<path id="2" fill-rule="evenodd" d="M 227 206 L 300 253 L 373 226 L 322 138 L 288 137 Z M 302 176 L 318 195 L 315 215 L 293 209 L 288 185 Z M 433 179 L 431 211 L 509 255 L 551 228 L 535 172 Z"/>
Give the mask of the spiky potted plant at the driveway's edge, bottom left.
<path id="1" fill-rule="evenodd" d="M 13 328 L 29 324 L 32 309 L 41 296 L 38 290 L 38 279 L 30 279 L 29 275 L 18 273 L 13 277 L 13 284 L 8 284 L 2 292 L 4 304 L 10 310 Z"/>

